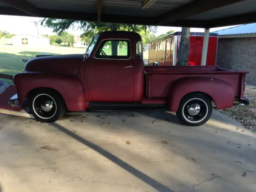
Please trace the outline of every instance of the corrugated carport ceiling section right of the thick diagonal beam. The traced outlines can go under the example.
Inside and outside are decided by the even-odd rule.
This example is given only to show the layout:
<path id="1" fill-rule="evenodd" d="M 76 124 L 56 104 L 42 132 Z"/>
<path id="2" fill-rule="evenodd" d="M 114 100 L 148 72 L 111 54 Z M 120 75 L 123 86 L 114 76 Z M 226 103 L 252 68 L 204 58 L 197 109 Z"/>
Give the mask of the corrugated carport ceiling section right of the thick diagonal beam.
<path id="1" fill-rule="evenodd" d="M 228 6 L 220 7 L 218 9 L 202 12 L 200 14 L 187 17 L 186 19 L 211 20 L 245 14 L 248 12 L 256 12 L 256 0 L 245 0 L 236 4 L 231 4 Z"/>

